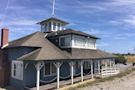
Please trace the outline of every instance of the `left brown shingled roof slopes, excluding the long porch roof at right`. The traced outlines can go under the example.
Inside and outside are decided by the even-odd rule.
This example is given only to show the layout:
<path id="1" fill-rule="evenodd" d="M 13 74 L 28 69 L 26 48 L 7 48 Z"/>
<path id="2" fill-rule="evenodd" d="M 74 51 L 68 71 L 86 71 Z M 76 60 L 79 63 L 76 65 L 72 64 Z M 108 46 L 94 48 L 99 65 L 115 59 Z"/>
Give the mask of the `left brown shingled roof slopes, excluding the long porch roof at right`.
<path id="1" fill-rule="evenodd" d="M 50 60 L 50 59 L 67 59 L 69 54 L 60 50 L 48 39 L 45 34 L 36 32 L 21 39 L 9 43 L 7 48 L 11 47 L 39 47 L 39 49 L 20 57 L 24 60 Z"/>

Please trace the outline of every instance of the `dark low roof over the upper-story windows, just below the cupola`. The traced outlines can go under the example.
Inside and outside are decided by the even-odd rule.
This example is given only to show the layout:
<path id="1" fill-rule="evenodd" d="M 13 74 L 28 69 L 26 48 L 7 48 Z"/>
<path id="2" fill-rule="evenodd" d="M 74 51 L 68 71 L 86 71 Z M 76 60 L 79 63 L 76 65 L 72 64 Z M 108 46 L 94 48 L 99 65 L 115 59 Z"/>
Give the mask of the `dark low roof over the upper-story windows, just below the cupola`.
<path id="1" fill-rule="evenodd" d="M 90 37 L 90 38 L 94 38 L 94 39 L 99 39 L 96 36 L 81 32 L 81 31 L 77 31 L 77 30 L 73 30 L 73 29 L 66 29 L 66 30 L 61 30 L 61 31 L 57 31 L 57 32 L 50 32 L 48 33 L 47 37 L 53 37 L 53 36 L 62 36 L 62 35 L 68 35 L 68 34 L 74 34 L 74 35 L 80 35 L 80 36 L 85 36 L 85 37 Z"/>

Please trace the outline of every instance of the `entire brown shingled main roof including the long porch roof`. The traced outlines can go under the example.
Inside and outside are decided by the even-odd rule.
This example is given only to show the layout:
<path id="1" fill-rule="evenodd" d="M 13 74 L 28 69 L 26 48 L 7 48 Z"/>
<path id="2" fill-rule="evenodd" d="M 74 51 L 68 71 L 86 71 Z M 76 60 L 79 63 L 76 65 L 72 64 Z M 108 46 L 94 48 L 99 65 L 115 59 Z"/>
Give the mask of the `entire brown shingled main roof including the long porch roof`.
<path id="1" fill-rule="evenodd" d="M 69 60 L 69 59 L 98 59 L 113 58 L 112 54 L 101 50 L 71 49 L 71 52 L 61 50 L 47 38 L 45 33 L 36 32 L 9 43 L 8 47 L 39 47 L 38 49 L 18 58 L 19 60 Z"/>

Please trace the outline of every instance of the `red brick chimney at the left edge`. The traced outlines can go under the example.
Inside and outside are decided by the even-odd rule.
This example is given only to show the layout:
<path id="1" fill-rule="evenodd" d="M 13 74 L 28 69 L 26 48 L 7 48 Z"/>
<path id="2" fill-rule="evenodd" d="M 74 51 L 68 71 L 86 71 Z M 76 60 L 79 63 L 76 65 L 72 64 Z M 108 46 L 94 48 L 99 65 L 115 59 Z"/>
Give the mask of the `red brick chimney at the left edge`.
<path id="1" fill-rule="evenodd" d="M 9 30 L 7 28 L 1 29 L 1 48 L 8 45 L 8 34 Z"/>

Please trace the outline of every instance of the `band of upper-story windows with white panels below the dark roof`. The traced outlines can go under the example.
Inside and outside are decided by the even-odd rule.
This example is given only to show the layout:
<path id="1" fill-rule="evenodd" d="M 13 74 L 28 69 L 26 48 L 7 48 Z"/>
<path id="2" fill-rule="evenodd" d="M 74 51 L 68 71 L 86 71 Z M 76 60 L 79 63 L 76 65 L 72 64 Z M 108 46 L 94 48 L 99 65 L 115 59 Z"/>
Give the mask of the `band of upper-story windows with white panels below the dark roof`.
<path id="1" fill-rule="evenodd" d="M 65 35 L 59 39 L 62 48 L 96 49 L 96 40 L 77 35 Z"/>

